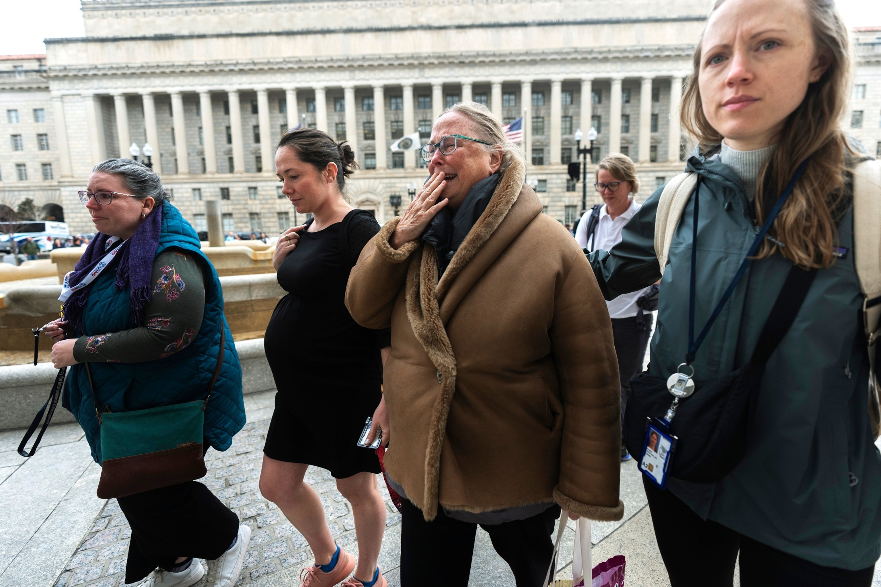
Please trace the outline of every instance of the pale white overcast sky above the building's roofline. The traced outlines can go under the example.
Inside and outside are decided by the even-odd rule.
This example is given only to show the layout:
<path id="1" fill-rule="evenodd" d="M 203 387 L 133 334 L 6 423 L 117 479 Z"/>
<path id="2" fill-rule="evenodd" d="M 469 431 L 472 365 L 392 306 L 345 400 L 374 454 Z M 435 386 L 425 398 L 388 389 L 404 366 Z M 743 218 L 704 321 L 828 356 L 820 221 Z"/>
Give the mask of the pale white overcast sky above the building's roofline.
<path id="1" fill-rule="evenodd" d="M 838 4 L 848 26 L 881 26 L 881 2 L 838 0 Z M 0 0 L 0 6 L 0 55 L 45 53 L 43 39 L 84 34 L 79 0 Z"/>

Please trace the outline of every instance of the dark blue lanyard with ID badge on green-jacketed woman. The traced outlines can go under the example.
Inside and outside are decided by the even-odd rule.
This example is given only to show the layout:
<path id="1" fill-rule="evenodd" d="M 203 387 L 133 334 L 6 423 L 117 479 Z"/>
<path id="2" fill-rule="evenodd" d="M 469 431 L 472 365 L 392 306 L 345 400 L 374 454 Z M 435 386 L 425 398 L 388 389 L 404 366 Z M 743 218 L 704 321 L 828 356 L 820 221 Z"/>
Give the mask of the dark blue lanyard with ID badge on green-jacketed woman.
<path id="1" fill-rule="evenodd" d="M 722 294 L 722 299 L 716 304 L 713 313 L 710 314 L 709 319 L 707 319 L 707 324 L 703 327 L 703 330 L 700 331 L 698 338 L 695 339 L 694 298 L 695 290 L 697 290 L 697 272 L 695 269 L 698 264 L 698 192 L 700 190 L 700 175 L 698 175 L 698 181 L 694 187 L 694 218 L 692 220 L 692 275 L 688 298 L 688 352 L 685 354 L 685 363 L 680 363 L 677 372 L 667 378 L 667 390 L 674 398 L 673 403 L 670 404 L 670 408 L 667 410 L 667 413 L 663 418 L 652 418 L 651 421 L 648 422 L 645 442 L 642 448 L 642 458 L 640 459 L 640 470 L 642 473 L 645 473 L 648 476 L 648 479 L 660 488 L 664 488 L 667 485 L 667 471 L 670 468 L 670 458 L 673 455 L 673 450 L 676 448 L 677 442 L 677 437 L 670 434 L 670 422 L 673 421 L 673 417 L 676 415 L 676 408 L 679 406 L 679 401 L 684 400 L 694 393 L 694 381 L 692 379 L 694 377 L 694 367 L 692 367 L 694 356 L 697 354 L 700 344 L 705 338 L 707 338 L 707 333 L 709 333 L 710 327 L 713 326 L 715 319 L 717 319 L 722 312 L 722 307 L 724 307 L 728 302 L 729 297 L 734 293 L 734 289 L 737 287 L 737 283 L 740 282 L 740 278 L 744 276 L 746 268 L 750 266 L 752 257 L 756 254 L 756 251 L 759 250 L 759 245 L 761 245 L 762 239 L 765 238 L 768 229 L 771 228 L 771 224 L 774 223 L 774 218 L 780 213 L 789 194 L 792 194 L 792 189 L 796 186 L 796 181 L 802 177 L 802 173 L 808 166 L 810 160 L 810 158 L 807 158 L 802 162 L 802 165 L 798 165 L 798 168 L 793 174 L 792 179 L 789 180 L 786 189 L 784 189 L 781 196 L 777 198 L 774 208 L 771 209 L 771 212 L 765 219 L 765 223 L 762 224 L 761 228 L 756 233 L 756 238 L 752 240 L 752 245 L 746 252 L 746 256 L 740 263 L 740 267 L 737 268 L 737 273 L 729 283 L 728 289 Z M 687 370 L 691 370 L 691 372 L 684 372 Z"/>

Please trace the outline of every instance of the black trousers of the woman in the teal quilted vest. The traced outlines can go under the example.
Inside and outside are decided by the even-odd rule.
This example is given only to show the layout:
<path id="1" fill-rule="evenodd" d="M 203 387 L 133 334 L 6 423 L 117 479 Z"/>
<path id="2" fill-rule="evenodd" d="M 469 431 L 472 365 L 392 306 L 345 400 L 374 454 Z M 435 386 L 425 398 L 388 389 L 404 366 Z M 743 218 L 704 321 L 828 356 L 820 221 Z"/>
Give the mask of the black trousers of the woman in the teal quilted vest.
<path id="1" fill-rule="evenodd" d="M 239 532 L 239 517 L 202 483 L 187 481 L 116 499 L 131 526 L 125 582 L 171 570 L 181 556 L 212 561 Z"/>

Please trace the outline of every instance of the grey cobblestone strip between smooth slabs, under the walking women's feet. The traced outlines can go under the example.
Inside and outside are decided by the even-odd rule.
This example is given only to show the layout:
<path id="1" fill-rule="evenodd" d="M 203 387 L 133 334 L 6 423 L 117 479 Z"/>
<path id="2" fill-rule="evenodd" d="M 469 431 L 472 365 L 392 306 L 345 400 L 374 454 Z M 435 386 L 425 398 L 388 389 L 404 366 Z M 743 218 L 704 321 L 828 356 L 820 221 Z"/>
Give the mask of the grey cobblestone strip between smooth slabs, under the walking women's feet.
<path id="1" fill-rule="evenodd" d="M 285 519 L 278 506 L 260 495 L 257 487 L 269 424 L 269 419 L 248 422 L 235 436 L 228 451 L 209 450 L 205 455 L 208 475 L 200 480 L 251 528 L 251 543 L 237 585 L 252 583 L 284 569 L 299 571 L 312 561 L 306 539 Z M 309 467 L 306 481 L 321 495 L 330 533 L 337 544 L 345 547 L 354 543 L 352 508 L 337 491 L 330 473 Z M 389 508 L 386 525 L 400 524 L 400 514 L 392 505 L 381 480 L 380 490 Z M 130 536 L 129 524 L 116 500 L 108 501 L 92 531 L 86 534 L 82 545 L 70 558 L 56 587 L 118 587 L 126 584 L 125 560 Z M 349 550 L 356 549 L 349 547 Z M 196 583 L 196 587 L 203 582 Z"/>

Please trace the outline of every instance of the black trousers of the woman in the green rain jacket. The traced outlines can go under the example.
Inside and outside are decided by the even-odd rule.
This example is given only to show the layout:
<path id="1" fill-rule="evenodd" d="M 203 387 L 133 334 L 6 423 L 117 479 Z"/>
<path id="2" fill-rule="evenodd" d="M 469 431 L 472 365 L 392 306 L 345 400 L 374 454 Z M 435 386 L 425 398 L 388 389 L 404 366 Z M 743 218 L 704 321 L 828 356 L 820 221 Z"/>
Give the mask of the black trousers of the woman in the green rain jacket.
<path id="1" fill-rule="evenodd" d="M 676 495 L 645 478 L 648 509 L 672 587 L 731 587 L 740 552 L 742 587 L 869 587 L 875 566 L 822 567 L 701 519 Z"/>

